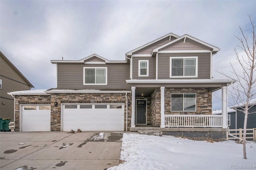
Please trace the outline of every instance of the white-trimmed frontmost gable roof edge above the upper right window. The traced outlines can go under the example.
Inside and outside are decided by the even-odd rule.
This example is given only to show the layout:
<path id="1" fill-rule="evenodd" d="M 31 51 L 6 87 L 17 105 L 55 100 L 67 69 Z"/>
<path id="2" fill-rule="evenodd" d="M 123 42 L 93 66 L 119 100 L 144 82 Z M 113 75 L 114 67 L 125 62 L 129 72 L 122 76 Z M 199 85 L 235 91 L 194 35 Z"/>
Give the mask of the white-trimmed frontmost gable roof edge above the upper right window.
<path id="1" fill-rule="evenodd" d="M 198 40 L 198 39 L 196 39 L 196 38 L 194 38 L 194 37 L 192 37 L 192 36 L 189 36 L 188 34 L 185 34 L 185 35 L 183 35 L 183 36 L 177 38 L 176 40 L 173 40 L 173 41 L 171 41 L 171 42 L 169 42 L 169 43 L 166 43 L 166 44 L 164 44 L 164 45 L 162 45 L 162 46 L 160 46 L 160 47 L 157 47 L 157 48 L 153 49 L 151 55 L 153 55 L 153 53 L 157 53 L 160 49 L 162 49 L 162 48 L 164 48 L 164 47 L 167 47 L 168 45 L 174 44 L 174 43 L 176 43 L 176 42 L 178 42 L 178 41 L 180 41 L 180 40 L 182 40 L 182 39 L 184 39 L 184 41 L 185 41 L 186 38 L 188 38 L 188 39 L 190 39 L 190 40 L 193 40 L 193 41 L 195 41 L 195 42 L 198 42 L 198 43 L 200 43 L 200 44 L 202 44 L 202 45 L 205 45 L 205 46 L 207 46 L 207 47 L 210 47 L 210 48 L 212 49 L 212 53 L 213 53 L 213 54 L 214 54 L 214 53 L 217 53 L 217 52 L 220 50 L 218 47 L 215 47 L 215 46 L 210 45 L 210 44 L 208 44 L 208 43 L 206 43 L 206 42 L 203 42 L 203 41 L 201 41 L 201 40 Z"/>

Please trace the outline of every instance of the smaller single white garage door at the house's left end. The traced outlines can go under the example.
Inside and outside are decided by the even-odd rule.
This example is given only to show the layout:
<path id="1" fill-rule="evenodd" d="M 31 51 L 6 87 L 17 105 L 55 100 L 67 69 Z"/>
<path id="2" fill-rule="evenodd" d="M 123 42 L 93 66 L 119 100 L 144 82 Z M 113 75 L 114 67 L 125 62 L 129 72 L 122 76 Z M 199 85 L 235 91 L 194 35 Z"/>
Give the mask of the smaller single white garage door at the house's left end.
<path id="1" fill-rule="evenodd" d="M 23 105 L 21 116 L 22 132 L 50 131 L 50 105 Z"/>

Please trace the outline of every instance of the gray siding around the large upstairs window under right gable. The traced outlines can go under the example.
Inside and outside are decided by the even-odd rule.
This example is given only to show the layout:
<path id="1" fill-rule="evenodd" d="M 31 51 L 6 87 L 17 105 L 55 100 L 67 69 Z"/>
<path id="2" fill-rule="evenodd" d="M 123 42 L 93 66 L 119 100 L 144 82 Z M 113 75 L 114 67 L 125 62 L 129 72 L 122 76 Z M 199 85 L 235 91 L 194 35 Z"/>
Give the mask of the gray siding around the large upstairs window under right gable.
<path id="1" fill-rule="evenodd" d="M 170 78 L 170 57 L 198 57 L 198 77 Z M 210 53 L 159 53 L 158 79 L 210 79 Z"/>

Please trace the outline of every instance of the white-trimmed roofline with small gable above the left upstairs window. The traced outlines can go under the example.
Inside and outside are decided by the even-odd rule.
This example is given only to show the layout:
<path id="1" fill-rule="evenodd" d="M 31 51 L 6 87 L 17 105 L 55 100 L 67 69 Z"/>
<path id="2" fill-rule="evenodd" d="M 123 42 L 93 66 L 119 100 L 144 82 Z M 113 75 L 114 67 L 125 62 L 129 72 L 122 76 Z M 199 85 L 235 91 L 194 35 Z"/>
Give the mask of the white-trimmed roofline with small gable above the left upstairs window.
<path id="1" fill-rule="evenodd" d="M 126 61 L 110 61 L 104 57 L 101 57 L 100 55 L 97 55 L 97 54 L 92 54 L 92 55 L 85 57 L 83 59 L 80 59 L 80 60 L 51 60 L 51 63 L 86 63 L 86 62 L 92 63 L 92 62 L 86 61 L 86 60 L 93 58 L 93 57 L 97 57 L 103 61 L 103 62 L 98 62 L 98 63 L 126 63 Z M 93 63 L 95 63 L 95 62 L 93 62 Z"/>

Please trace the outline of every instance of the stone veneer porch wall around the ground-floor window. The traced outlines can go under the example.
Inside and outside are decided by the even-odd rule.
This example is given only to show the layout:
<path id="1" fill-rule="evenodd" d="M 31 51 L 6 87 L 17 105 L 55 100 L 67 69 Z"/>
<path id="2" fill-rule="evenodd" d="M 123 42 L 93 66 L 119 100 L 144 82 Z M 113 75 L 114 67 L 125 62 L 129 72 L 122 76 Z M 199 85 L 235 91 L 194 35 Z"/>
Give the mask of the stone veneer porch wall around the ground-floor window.
<path id="1" fill-rule="evenodd" d="M 171 112 L 171 93 L 196 93 L 196 112 Z M 156 89 L 151 95 L 150 115 L 152 127 L 160 127 L 161 93 Z M 211 115 L 212 93 L 208 89 L 165 89 L 164 114 L 166 115 Z"/>

